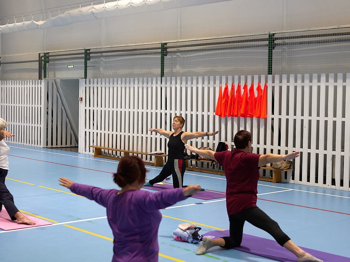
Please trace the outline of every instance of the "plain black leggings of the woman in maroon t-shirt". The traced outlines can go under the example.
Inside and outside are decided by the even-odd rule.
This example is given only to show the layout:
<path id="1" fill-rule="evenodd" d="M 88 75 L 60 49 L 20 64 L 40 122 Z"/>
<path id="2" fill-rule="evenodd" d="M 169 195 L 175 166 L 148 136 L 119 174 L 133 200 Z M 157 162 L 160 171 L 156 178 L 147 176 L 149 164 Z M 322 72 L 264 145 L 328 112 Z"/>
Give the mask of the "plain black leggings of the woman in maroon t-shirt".
<path id="1" fill-rule="evenodd" d="M 248 208 L 237 214 L 229 216 L 230 221 L 230 236 L 224 236 L 224 248 L 238 247 L 242 242 L 243 226 L 247 221 L 253 226 L 256 226 L 270 235 L 283 246 L 290 238 L 281 230 L 276 221 L 272 220 L 267 214 L 257 206 Z"/>

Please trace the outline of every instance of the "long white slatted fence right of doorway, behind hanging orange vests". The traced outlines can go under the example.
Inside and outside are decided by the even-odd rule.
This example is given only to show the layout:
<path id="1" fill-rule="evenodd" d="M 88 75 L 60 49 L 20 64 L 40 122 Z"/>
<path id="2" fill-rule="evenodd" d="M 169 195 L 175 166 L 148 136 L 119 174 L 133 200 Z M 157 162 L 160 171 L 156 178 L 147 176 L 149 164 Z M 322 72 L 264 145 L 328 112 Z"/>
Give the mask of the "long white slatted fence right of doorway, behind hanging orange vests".
<path id="1" fill-rule="evenodd" d="M 265 75 L 178 77 L 163 78 L 162 82 L 160 78 L 80 80 L 79 152 L 92 154 L 89 145 L 167 152 L 167 139 L 148 128 L 171 130 L 172 118 L 182 115 L 186 119 L 184 131 L 219 130 L 216 137 L 193 139 L 191 145 L 215 150 L 218 141 L 226 141 L 231 148 L 234 134 L 245 129 L 252 133 L 254 152 L 301 152 L 293 173 L 286 172 L 283 182 L 349 190 L 350 92 L 346 90 L 350 90 L 350 74 L 345 80 L 343 77 L 305 74 L 269 75 L 267 79 Z M 238 83 L 249 86 L 253 82 L 256 87 L 258 82 L 264 86 L 266 80 L 266 119 L 215 116 L 220 85 L 233 82 L 236 87 Z"/>

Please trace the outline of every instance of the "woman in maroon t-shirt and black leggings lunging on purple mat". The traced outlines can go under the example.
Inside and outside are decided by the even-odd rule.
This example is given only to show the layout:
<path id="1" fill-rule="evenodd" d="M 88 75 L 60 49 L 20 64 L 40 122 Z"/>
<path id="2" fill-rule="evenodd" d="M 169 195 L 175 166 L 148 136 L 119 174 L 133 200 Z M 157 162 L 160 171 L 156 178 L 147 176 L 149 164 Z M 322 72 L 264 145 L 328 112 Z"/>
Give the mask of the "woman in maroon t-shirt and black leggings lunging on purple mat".
<path id="1" fill-rule="evenodd" d="M 298 262 L 323 262 L 295 245 L 281 230 L 278 223 L 256 205 L 259 167 L 283 159 L 294 159 L 299 156 L 300 152 L 286 155 L 254 154 L 250 153 L 251 141 L 251 133 L 240 130 L 233 138 L 236 148 L 232 151 L 198 150 L 195 147 L 185 145 L 186 149 L 217 161 L 224 167 L 226 176 L 226 209 L 230 221 L 230 236 L 213 240 L 204 238 L 197 248 L 196 255 L 202 255 L 214 246 L 238 247 L 242 241 L 244 223 L 247 221 L 271 234 L 282 247 L 296 255 Z"/>

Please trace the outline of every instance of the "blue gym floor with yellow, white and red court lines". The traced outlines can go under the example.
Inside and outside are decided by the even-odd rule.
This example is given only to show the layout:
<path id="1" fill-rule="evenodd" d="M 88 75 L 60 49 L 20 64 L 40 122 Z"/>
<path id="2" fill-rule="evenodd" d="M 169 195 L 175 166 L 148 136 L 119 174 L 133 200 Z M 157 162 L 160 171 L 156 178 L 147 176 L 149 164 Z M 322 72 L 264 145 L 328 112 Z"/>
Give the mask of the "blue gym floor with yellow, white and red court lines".
<path id="1" fill-rule="evenodd" d="M 105 209 L 86 198 L 67 194 L 68 190 L 58 184 L 58 177 L 118 188 L 112 181 L 118 161 L 49 148 L 10 143 L 8 146 L 10 171 L 6 184 L 16 206 L 53 224 L 0 230 L 0 261 L 111 261 L 113 236 Z M 146 167 L 147 179 L 161 170 Z M 226 180 L 221 175 L 191 171 L 185 173 L 184 184 L 200 184 L 207 190 L 225 192 Z M 198 202 L 203 204 L 195 204 Z M 197 244 L 174 240 L 173 231 L 180 223 L 195 223 L 202 227 L 202 234 L 229 229 L 225 204 L 225 198 L 209 201 L 188 198 L 161 210 L 159 261 L 274 261 L 219 247 L 197 256 Z M 257 204 L 297 245 L 350 257 L 350 192 L 259 181 Z M 245 224 L 244 233 L 272 239 L 249 223 Z"/>

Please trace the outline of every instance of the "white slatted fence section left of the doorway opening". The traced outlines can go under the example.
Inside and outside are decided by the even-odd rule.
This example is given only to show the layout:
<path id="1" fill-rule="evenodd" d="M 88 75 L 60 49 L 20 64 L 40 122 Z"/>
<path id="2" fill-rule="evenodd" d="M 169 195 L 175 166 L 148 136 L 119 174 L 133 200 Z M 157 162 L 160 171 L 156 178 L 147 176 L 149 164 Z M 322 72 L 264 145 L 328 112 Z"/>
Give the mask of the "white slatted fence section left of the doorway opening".
<path id="1" fill-rule="evenodd" d="M 14 137 L 6 141 L 39 147 L 76 146 L 53 80 L 0 81 L 0 115 Z"/>

